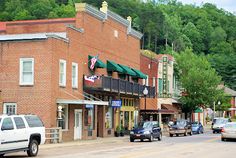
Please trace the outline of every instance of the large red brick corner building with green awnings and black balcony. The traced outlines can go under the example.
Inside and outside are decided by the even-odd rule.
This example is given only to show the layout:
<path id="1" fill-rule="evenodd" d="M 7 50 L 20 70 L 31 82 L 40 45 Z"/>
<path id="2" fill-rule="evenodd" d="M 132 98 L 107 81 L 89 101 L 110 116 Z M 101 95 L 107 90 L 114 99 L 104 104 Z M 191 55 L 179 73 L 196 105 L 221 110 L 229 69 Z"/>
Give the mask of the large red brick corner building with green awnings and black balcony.
<path id="1" fill-rule="evenodd" d="M 46 127 L 62 127 L 64 141 L 131 129 L 146 78 L 142 34 L 130 17 L 109 11 L 107 3 L 100 10 L 76 4 L 76 12 L 75 18 L 0 24 L 0 113 L 37 114 Z M 146 87 L 153 97 L 155 88 Z"/>

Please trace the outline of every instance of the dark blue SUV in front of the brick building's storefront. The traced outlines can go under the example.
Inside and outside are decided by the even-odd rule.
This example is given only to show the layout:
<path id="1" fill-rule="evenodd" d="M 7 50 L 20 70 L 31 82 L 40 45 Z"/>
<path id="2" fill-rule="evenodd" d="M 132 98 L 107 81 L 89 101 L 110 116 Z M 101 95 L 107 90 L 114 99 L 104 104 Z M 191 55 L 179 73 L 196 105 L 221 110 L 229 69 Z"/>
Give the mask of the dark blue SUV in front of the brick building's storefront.
<path id="1" fill-rule="evenodd" d="M 162 139 L 162 131 L 157 121 L 146 121 L 133 128 L 130 131 L 130 142 L 134 142 L 135 139 L 148 139 L 152 142 L 155 138 L 159 141 Z"/>

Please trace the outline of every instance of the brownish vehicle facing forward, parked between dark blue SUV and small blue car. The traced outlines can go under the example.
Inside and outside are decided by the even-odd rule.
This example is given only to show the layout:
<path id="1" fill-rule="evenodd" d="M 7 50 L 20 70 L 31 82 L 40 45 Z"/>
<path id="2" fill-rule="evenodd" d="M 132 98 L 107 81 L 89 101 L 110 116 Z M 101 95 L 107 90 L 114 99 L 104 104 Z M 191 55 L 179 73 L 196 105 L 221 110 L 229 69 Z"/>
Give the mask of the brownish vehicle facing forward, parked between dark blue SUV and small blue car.
<path id="1" fill-rule="evenodd" d="M 170 137 L 173 137 L 173 135 L 179 136 L 180 134 L 184 134 L 184 136 L 192 135 L 192 125 L 187 120 L 177 120 L 169 125 Z"/>

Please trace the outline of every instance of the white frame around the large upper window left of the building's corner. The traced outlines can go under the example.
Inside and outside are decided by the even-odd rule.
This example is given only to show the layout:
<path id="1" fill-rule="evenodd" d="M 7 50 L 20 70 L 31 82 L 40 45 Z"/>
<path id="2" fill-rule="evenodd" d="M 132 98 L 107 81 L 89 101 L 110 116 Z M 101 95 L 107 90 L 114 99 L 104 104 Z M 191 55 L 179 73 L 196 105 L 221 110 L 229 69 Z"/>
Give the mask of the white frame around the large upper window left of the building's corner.
<path id="1" fill-rule="evenodd" d="M 24 82 L 23 81 L 23 63 L 25 61 L 32 62 L 32 82 Z M 19 85 L 34 85 L 34 58 L 20 58 L 20 68 L 19 68 Z"/>

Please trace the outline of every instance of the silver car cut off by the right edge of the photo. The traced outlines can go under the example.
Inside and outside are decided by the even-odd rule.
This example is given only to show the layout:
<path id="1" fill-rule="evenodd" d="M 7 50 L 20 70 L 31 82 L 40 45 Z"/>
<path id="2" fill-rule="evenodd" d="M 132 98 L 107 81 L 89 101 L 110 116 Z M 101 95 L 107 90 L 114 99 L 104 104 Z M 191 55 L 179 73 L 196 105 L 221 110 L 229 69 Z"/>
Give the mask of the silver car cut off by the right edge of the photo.
<path id="1" fill-rule="evenodd" d="M 236 122 L 226 123 L 221 130 L 221 140 L 236 139 Z"/>

